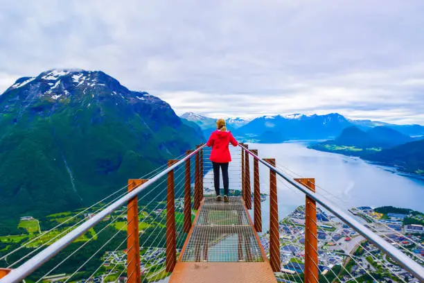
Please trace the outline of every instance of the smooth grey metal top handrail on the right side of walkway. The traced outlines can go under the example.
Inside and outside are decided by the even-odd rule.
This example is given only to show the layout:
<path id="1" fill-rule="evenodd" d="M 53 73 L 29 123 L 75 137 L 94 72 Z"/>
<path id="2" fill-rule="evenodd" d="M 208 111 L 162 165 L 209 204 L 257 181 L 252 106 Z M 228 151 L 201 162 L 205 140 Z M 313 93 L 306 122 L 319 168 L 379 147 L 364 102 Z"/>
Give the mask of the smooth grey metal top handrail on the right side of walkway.
<path id="1" fill-rule="evenodd" d="M 403 266 L 407 271 L 412 273 L 414 276 L 416 276 L 420 280 L 424 280 L 424 268 L 407 257 L 405 254 L 400 252 L 400 250 L 397 250 L 393 246 L 391 246 L 389 243 L 387 243 L 384 239 L 379 237 L 377 234 L 374 234 L 371 230 L 364 227 L 364 225 L 360 224 L 358 221 L 356 221 L 353 217 L 349 216 L 344 212 L 342 209 L 337 207 L 331 200 L 328 200 L 325 196 L 322 196 L 321 194 L 314 193 L 308 189 L 308 187 L 305 187 L 301 184 L 298 184 L 294 180 L 292 180 L 290 177 L 285 175 L 280 169 L 276 168 L 275 166 L 272 166 L 270 164 L 267 164 L 267 162 L 264 162 L 263 160 L 260 160 L 258 156 L 254 155 L 249 151 L 247 148 L 240 146 L 245 149 L 245 152 L 255 159 L 257 159 L 260 163 L 267 166 L 270 170 L 274 171 L 277 175 L 279 175 L 281 178 L 283 178 L 286 182 L 288 182 L 290 185 L 292 185 L 294 188 L 298 189 L 299 191 L 303 192 L 306 196 L 310 197 L 312 200 L 315 200 L 317 203 L 322 205 L 326 210 L 333 213 L 335 216 L 337 216 L 339 219 L 344 221 L 344 223 L 347 223 L 350 225 L 354 230 L 362 234 L 366 239 L 369 239 L 372 243 L 374 243 L 378 248 L 385 251 L 389 256 L 391 256 L 395 261 L 398 261 L 398 263 Z"/>

